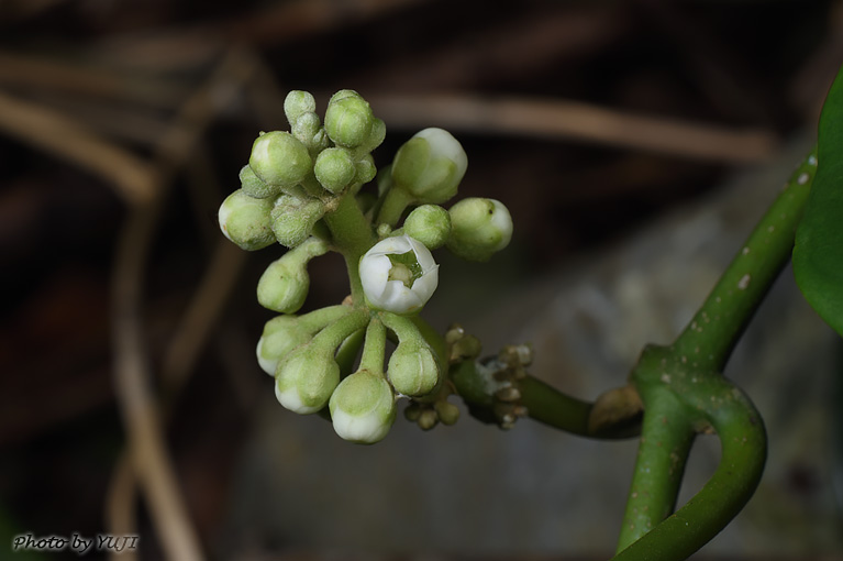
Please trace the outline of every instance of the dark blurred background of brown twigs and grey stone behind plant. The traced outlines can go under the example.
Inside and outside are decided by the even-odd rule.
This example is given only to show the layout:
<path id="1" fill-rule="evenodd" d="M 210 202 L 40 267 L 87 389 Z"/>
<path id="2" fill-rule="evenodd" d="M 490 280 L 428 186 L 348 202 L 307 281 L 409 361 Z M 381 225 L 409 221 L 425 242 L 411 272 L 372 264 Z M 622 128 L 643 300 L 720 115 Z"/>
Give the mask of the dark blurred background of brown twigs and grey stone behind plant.
<path id="1" fill-rule="evenodd" d="M 437 254 L 425 312 L 489 353 L 532 342 L 591 399 L 690 318 L 841 61 L 832 0 L 0 0 L 0 559 L 76 558 L 11 553 L 25 532 L 136 535 L 138 559 L 609 557 L 634 441 L 464 411 L 355 447 L 278 406 L 254 287 L 282 249 L 240 251 L 217 209 L 290 89 L 320 113 L 359 91 L 378 165 L 448 129 L 459 197 L 515 234 L 488 264 Z M 311 279 L 306 309 L 345 296 L 336 256 Z M 733 366 L 768 470 L 699 556 L 843 559 L 840 349 L 789 274 L 770 301 Z M 701 440 L 685 498 L 717 465 Z"/>

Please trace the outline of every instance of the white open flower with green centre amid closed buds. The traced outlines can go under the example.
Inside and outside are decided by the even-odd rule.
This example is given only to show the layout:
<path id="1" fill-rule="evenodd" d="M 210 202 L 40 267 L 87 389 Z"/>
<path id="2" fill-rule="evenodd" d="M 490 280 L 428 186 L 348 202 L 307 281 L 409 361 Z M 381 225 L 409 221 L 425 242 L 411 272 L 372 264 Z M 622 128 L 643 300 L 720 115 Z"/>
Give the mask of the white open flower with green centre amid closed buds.
<path id="1" fill-rule="evenodd" d="M 433 255 L 409 235 L 376 243 L 361 258 L 359 274 L 368 302 L 393 314 L 418 311 L 439 285 L 439 265 Z"/>

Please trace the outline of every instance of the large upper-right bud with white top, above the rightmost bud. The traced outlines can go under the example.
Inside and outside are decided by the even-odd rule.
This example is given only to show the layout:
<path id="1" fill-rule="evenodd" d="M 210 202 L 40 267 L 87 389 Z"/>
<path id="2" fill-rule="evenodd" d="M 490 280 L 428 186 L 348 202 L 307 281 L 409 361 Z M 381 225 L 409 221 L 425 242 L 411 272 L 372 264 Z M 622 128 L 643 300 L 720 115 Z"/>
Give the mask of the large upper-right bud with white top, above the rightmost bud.
<path id="1" fill-rule="evenodd" d="M 456 195 L 468 167 L 463 146 L 450 132 L 424 129 L 392 161 L 392 182 L 419 202 L 445 202 Z"/>

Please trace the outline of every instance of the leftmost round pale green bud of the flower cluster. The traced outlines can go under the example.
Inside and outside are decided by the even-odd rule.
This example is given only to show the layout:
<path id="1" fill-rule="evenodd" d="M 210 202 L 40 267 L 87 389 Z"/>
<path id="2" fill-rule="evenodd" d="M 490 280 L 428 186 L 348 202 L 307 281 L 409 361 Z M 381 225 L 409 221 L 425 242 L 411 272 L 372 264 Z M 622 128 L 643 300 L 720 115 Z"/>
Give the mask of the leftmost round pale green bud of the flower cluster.
<path id="1" fill-rule="evenodd" d="M 264 249 L 275 243 L 271 209 L 271 199 L 256 199 L 237 189 L 220 205 L 220 230 L 246 251 Z"/>

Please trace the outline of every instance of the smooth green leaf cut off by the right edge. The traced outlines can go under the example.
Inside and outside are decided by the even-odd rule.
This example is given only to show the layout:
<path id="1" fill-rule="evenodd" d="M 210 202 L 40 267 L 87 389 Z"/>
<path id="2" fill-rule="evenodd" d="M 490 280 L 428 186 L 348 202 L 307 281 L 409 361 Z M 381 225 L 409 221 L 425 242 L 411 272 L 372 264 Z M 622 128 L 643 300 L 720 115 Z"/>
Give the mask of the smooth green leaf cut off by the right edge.
<path id="1" fill-rule="evenodd" d="M 796 232 L 794 274 L 808 304 L 843 336 L 843 68 L 822 108 L 818 168 Z"/>

